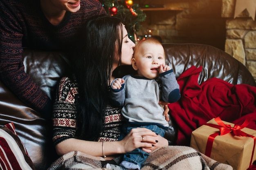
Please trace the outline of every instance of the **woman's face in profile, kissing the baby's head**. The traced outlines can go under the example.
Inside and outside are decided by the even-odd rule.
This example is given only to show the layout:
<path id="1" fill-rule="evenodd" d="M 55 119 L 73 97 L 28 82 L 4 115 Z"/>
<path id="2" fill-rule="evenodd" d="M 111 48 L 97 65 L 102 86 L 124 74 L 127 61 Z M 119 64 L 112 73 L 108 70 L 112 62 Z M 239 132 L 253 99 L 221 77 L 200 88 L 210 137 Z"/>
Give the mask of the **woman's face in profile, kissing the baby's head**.
<path id="1" fill-rule="evenodd" d="M 121 60 L 122 60 L 122 65 L 131 65 L 131 59 L 133 55 L 133 48 L 135 47 L 134 42 L 128 38 L 128 33 L 126 28 L 124 27 L 124 24 L 122 25 L 123 29 L 123 41 L 122 41 L 122 47 L 121 47 Z M 115 64 L 114 64 L 114 69 L 118 66 L 119 64 L 119 57 L 116 57 Z"/>

